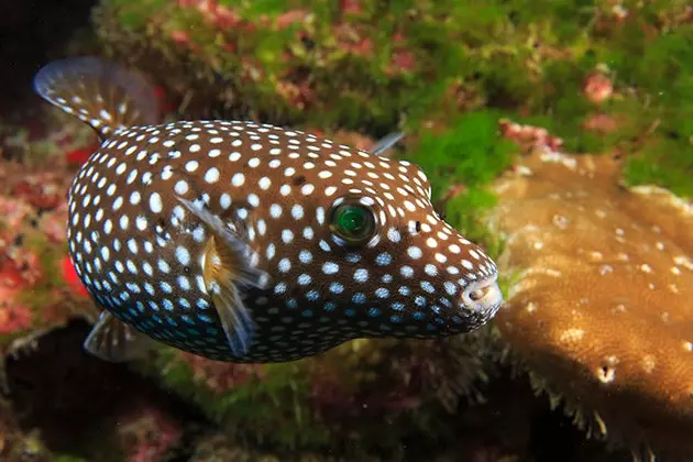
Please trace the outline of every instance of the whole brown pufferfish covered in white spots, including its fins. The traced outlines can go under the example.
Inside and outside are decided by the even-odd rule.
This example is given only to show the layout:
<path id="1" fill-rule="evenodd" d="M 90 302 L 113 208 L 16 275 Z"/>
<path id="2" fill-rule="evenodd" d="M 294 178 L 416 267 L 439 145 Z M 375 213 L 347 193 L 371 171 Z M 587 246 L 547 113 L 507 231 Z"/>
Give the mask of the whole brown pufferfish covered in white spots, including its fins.
<path id="1" fill-rule="evenodd" d="M 355 338 L 469 332 L 502 304 L 496 264 L 433 210 L 416 165 L 250 121 L 161 124 L 152 87 L 94 57 L 51 63 L 44 99 L 101 145 L 68 193 L 67 242 L 100 318 L 85 349 L 158 341 L 285 362 Z"/>

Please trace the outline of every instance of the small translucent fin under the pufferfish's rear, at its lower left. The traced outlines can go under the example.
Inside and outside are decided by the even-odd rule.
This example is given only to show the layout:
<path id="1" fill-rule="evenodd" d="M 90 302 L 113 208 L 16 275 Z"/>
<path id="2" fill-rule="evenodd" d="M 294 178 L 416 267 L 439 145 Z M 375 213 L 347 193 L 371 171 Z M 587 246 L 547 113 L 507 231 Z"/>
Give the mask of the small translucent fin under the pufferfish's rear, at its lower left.
<path id="1" fill-rule="evenodd" d="M 142 359 L 150 350 L 148 338 L 103 310 L 87 336 L 84 349 L 103 360 L 121 363 Z"/>

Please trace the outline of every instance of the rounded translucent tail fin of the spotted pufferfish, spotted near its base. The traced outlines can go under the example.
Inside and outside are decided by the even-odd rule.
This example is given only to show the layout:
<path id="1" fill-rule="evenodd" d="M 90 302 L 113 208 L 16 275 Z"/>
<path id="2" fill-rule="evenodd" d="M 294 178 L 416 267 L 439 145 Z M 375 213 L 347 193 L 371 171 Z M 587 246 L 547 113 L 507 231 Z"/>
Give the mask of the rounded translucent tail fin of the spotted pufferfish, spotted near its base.
<path id="1" fill-rule="evenodd" d="M 143 77 L 96 57 L 47 64 L 34 77 L 34 89 L 91 125 L 101 140 L 121 128 L 160 121 L 154 88 Z"/>

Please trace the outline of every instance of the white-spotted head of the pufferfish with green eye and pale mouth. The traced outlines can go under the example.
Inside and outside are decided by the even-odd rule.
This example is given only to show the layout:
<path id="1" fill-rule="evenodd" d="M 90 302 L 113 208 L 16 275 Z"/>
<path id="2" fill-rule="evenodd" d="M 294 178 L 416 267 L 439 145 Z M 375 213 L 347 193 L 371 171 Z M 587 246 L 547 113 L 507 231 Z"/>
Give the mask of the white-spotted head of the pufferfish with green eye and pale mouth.
<path id="1" fill-rule="evenodd" d="M 365 337 L 468 332 L 495 315 L 495 263 L 436 212 L 418 166 L 355 150 L 331 158 L 329 170 L 302 178 L 321 194 L 290 206 L 309 221 L 278 261 L 283 296 L 293 298 L 287 285 L 312 294 Z"/>

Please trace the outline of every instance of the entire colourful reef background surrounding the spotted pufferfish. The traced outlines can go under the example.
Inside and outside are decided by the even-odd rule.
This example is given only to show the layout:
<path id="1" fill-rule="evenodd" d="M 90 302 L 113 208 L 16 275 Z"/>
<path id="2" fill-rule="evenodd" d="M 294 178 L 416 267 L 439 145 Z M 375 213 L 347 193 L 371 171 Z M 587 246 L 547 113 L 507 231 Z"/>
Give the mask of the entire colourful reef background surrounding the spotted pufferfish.
<path id="1" fill-rule="evenodd" d="M 0 34 L 0 460 L 693 460 L 689 2 L 8 1 Z M 86 354 L 66 194 L 98 140 L 32 90 L 80 55 L 141 72 L 166 121 L 404 132 L 384 155 L 505 305 L 290 363 Z"/>

